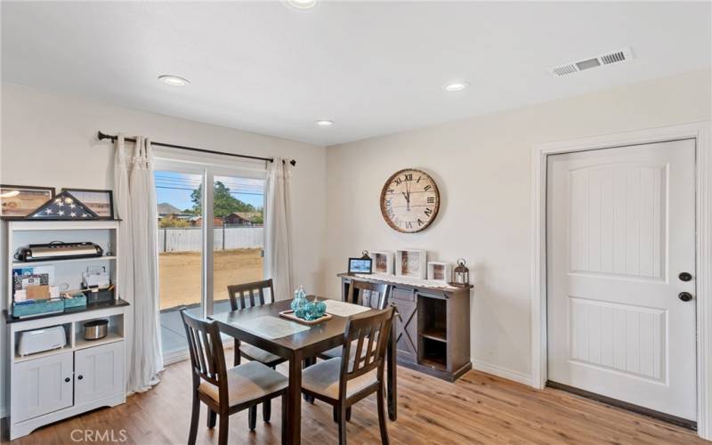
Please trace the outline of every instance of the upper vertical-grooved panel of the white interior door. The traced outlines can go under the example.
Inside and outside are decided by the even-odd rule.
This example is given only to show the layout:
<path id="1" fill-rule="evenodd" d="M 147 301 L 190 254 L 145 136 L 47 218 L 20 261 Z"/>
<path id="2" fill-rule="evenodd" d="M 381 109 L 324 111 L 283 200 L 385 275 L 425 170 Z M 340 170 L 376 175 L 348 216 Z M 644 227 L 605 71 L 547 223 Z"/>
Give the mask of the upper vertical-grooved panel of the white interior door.
<path id="1" fill-rule="evenodd" d="M 570 271 L 660 279 L 665 268 L 665 166 L 570 171 Z"/>

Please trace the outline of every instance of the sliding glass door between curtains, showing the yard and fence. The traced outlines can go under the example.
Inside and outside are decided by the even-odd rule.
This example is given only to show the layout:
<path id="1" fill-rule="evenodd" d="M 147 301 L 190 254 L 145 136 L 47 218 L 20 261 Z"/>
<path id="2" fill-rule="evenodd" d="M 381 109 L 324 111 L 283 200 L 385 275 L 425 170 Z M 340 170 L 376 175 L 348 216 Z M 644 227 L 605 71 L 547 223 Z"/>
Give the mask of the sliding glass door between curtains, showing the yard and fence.
<path id="1" fill-rule="evenodd" d="M 164 359 L 187 352 L 179 310 L 230 310 L 227 287 L 263 279 L 263 172 L 157 162 L 160 321 Z M 206 184 L 209 184 L 206 187 Z"/>

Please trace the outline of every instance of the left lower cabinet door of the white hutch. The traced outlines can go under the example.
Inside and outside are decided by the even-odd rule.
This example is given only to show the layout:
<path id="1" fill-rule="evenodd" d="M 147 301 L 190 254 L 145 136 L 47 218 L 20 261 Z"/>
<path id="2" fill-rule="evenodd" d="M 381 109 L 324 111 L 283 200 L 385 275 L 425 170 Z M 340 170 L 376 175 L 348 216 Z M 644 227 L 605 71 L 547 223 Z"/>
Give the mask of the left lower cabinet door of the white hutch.
<path id="1" fill-rule="evenodd" d="M 71 351 L 13 366 L 13 424 L 72 406 Z"/>

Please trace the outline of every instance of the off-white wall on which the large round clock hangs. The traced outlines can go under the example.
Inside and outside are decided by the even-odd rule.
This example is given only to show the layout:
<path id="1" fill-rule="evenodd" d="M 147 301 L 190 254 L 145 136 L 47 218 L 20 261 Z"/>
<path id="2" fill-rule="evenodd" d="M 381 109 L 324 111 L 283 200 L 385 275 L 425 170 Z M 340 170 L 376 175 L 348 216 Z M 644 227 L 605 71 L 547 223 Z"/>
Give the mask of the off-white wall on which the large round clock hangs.
<path id="1" fill-rule="evenodd" d="M 464 257 L 475 368 L 529 382 L 532 145 L 708 120 L 710 93 L 710 71 L 696 71 L 329 147 L 325 287 L 336 294 L 344 258 L 362 249 Z M 405 167 L 433 174 L 442 199 L 435 223 L 411 235 L 392 231 L 378 206 L 384 181 Z"/>

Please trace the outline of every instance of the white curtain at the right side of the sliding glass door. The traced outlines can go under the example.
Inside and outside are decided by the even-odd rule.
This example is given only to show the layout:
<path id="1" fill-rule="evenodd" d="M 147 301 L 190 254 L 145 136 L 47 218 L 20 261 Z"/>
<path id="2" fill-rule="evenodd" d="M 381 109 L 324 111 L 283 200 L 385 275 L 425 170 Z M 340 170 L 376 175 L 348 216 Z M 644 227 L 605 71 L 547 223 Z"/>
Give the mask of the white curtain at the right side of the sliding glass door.
<path id="1" fill-rule="evenodd" d="M 274 158 L 264 189 L 264 277 L 274 284 L 273 300 L 287 300 L 294 292 L 291 237 L 291 166 Z"/>

